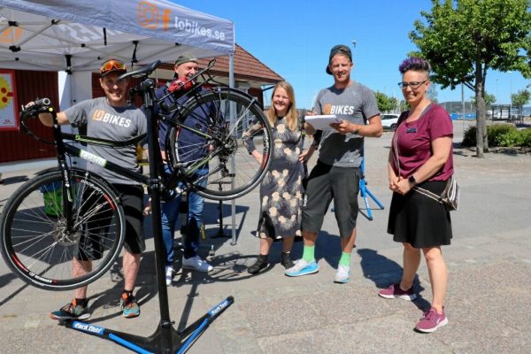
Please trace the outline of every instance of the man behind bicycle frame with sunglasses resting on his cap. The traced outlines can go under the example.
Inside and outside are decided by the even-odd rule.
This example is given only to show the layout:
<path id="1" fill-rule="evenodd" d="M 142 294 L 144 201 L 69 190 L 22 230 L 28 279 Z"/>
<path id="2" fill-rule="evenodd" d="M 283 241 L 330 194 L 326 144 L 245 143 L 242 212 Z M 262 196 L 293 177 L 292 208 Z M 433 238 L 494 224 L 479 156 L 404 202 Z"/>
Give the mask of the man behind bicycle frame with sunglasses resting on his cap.
<path id="1" fill-rule="evenodd" d="M 110 59 L 100 67 L 100 85 L 105 96 L 83 101 L 65 110 L 58 112 L 58 124 L 72 124 L 73 127 L 87 125 L 87 135 L 112 141 L 125 141 L 147 132 L 147 122 L 143 112 L 134 105 L 127 103 L 126 92 L 128 80 L 119 80 L 119 75 L 127 73 L 127 66 L 120 60 Z M 42 124 L 51 127 L 50 113 L 39 114 Z M 100 156 L 107 161 L 139 172 L 136 162 L 136 146 L 108 147 L 88 145 L 89 152 Z M 140 307 L 136 302 L 133 290 L 135 289 L 136 275 L 140 267 L 141 253 L 145 249 L 142 234 L 142 185 L 131 181 L 117 173 L 112 173 L 100 165 L 88 163 L 90 172 L 99 174 L 118 192 L 124 212 L 126 214 L 126 240 L 124 242 L 123 273 L 124 289 L 120 296 L 122 314 L 126 318 L 136 317 L 140 314 Z M 97 225 L 100 232 L 104 232 L 105 225 Z M 91 227 L 92 228 L 92 227 Z M 104 235 L 103 235 L 104 236 Z M 84 238 L 88 240 L 89 237 Z M 89 242 L 89 241 L 88 241 Z M 78 255 L 73 259 L 73 273 L 81 276 L 90 269 L 92 262 L 97 259 L 96 247 L 94 254 Z M 51 319 L 89 319 L 89 301 L 87 299 L 88 287 L 75 289 L 73 301 L 65 304 L 60 310 L 50 313 Z"/>

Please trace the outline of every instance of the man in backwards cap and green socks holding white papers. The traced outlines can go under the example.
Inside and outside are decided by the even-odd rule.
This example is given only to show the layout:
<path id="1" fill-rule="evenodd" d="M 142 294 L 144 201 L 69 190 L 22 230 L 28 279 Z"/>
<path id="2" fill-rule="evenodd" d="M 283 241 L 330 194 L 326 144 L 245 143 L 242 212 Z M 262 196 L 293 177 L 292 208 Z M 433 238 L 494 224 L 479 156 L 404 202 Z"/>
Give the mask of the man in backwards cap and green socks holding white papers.
<path id="1" fill-rule="evenodd" d="M 381 118 L 373 91 L 350 79 L 352 53 L 346 45 L 330 50 L 327 73 L 334 85 L 322 89 L 312 114 L 335 114 L 339 123 L 316 131 L 304 123 L 306 133 L 320 138 L 319 159 L 308 178 L 303 202 L 303 258 L 287 269 L 288 276 L 317 273 L 315 241 L 334 199 L 335 219 L 341 236 L 342 256 L 334 281 L 345 283 L 350 277 L 350 253 L 356 241 L 358 192 L 361 177 L 364 137 L 381 136 Z"/>

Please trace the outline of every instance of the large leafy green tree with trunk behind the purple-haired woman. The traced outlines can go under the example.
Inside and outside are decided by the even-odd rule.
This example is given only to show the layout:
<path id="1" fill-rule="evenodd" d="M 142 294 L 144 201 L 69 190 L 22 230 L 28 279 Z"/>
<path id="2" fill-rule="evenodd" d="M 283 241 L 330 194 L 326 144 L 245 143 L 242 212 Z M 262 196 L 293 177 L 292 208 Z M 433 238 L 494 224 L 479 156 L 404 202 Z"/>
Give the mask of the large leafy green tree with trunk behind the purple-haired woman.
<path id="1" fill-rule="evenodd" d="M 477 119 L 477 156 L 489 150 L 485 80 L 489 69 L 519 71 L 531 78 L 531 12 L 527 0 L 432 0 L 420 12 L 410 38 L 417 55 L 432 65 L 431 80 L 443 89 L 472 89 Z"/>

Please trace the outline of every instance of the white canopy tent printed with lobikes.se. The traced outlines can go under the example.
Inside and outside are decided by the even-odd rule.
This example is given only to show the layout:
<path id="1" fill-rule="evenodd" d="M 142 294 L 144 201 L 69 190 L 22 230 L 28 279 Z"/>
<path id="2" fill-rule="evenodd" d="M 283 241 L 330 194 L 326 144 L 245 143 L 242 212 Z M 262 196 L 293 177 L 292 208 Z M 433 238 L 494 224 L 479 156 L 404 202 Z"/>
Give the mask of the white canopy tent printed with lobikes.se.
<path id="1" fill-rule="evenodd" d="M 0 0 L 0 68 L 58 71 L 60 108 L 91 98 L 106 58 L 130 67 L 228 56 L 234 86 L 234 25 L 166 0 Z M 233 211 L 235 205 L 233 204 Z M 235 238 L 233 214 L 233 240 Z"/>

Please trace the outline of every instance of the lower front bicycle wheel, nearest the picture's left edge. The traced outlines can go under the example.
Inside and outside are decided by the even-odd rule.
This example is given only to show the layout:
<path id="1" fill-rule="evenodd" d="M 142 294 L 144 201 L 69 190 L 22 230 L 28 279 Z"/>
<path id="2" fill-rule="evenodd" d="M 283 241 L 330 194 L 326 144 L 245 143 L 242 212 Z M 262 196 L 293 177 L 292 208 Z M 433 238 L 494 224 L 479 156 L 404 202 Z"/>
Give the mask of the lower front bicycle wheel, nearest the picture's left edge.
<path id="1" fill-rule="evenodd" d="M 60 171 L 23 184 L 0 218 L 5 263 L 37 288 L 69 290 L 96 281 L 112 266 L 124 241 L 125 215 L 107 182 L 73 169 L 67 190 L 73 201 L 70 231 Z"/>

